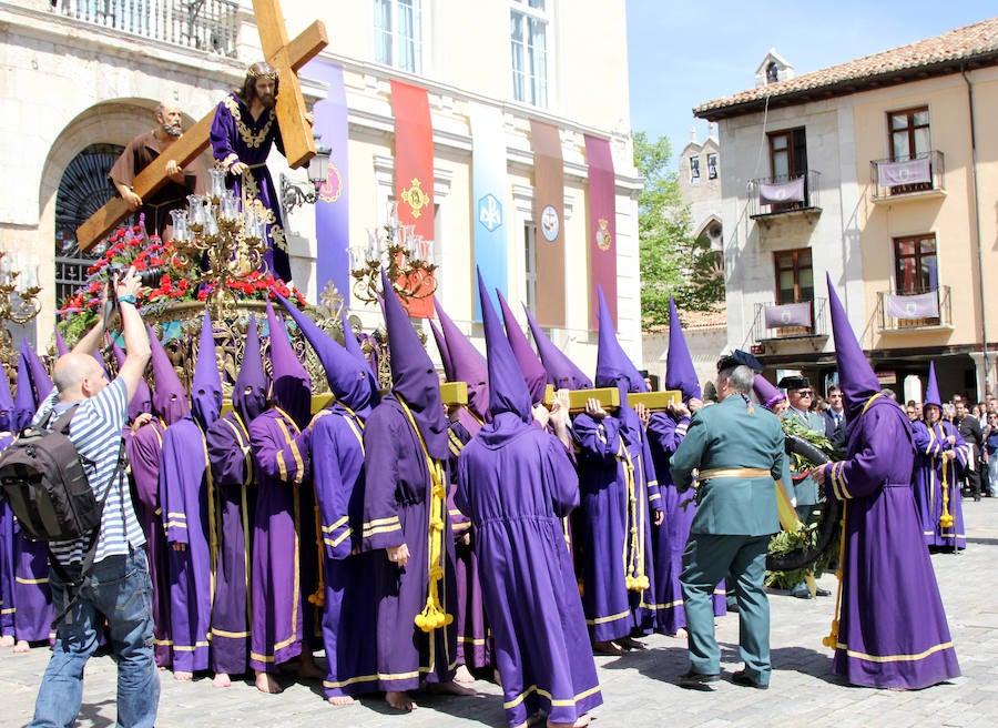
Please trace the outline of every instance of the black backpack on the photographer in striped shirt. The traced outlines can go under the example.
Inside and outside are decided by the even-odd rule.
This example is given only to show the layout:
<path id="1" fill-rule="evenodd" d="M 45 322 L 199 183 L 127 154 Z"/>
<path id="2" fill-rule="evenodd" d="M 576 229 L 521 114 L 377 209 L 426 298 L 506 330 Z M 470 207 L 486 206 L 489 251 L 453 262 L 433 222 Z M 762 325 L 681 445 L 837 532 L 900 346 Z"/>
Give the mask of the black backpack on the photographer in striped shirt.
<path id="1" fill-rule="evenodd" d="M 27 427 L 0 454 L 0 494 L 10 504 L 28 538 L 48 543 L 90 536 L 79 578 L 70 576 L 49 549 L 50 566 L 72 595 L 65 609 L 55 616 L 53 626 L 68 614 L 80 595 L 80 588 L 89 582 L 104 501 L 124 462 L 122 441 L 108 489 L 104 497 L 98 501 L 86 479 L 85 467 L 92 467 L 93 463 L 80 455 L 69 438 L 75 410 L 74 405 L 62 413 L 51 428 L 48 427 L 53 414 L 50 412 L 38 425 Z"/>

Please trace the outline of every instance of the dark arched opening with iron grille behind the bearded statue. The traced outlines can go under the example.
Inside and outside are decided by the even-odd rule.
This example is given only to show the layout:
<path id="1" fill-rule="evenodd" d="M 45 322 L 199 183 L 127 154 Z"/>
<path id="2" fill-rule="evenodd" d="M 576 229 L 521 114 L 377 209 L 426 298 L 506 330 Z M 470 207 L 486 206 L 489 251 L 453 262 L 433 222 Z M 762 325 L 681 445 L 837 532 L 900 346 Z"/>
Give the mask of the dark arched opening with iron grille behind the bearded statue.
<path id="1" fill-rule="evenodd" d="M 83 283 L 86 269 L 104 252 L 101 243 L 82 252 L 77 245 L 77 228 L 113 196 L 108 170 L 122 151 L 124 146 L 116 144 L 91 144 L 73 158 L 59 182 L 55 194 L 57 306 Z"/>

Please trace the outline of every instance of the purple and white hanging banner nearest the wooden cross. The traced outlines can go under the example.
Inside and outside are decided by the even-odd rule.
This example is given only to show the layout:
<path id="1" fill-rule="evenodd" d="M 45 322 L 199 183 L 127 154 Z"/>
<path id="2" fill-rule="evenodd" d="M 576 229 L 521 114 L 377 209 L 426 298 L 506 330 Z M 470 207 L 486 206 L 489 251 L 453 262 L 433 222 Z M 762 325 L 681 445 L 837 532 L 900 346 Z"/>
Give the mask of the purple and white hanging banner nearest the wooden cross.
<path id="1" fill-rule="evenodd" d="M 333 150 L 329 154 L 326 181 L 319 184 L 315 202 L 316 291 L 322 295 L 332 282 L 349 304 L 350 261 L 347 254 L 347 247 L 350 245 L 350 205 L 347 193 L 349 127 L 343 68 L 316 59 L 302 69 L 302 75 L 329 84 L 326 98 L 317 101 L 313 108 L 315 114 L 313 133 L 319 144 Z"/>

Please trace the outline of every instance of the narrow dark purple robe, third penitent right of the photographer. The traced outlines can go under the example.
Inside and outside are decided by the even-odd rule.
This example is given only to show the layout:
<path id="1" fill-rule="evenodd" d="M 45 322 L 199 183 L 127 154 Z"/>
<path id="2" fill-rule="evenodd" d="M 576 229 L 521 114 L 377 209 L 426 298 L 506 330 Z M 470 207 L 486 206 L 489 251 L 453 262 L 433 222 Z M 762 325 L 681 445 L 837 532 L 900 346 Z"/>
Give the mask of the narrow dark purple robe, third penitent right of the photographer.
<path id="1" fill-rule="evenodd" d="M 256 509 L 249 433 L 235 411 L 205 433 L 217 494 L 218 559 L 212 603 L 212 669 L 241 675 L 249 668 L 249 577 Z"/>

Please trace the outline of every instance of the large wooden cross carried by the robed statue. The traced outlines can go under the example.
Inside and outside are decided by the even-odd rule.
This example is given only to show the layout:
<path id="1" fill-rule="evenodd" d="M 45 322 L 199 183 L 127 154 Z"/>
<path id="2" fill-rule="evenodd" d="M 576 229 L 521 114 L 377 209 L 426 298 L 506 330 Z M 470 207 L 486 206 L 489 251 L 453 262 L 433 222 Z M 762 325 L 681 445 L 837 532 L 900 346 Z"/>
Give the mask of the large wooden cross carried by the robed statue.
<path id="1" fill-rule="evenodd" d="M 288 165 L 297 169 L 315 155 L 315 138 L 312 135 L 312 127 L 305 121 L 305 98 L 302 94 L 297 71 L 329 43 L 326 27 L 320 20 L 316 20 L 288 42 L 279 0 L 253 0 L 253 11 L 256 14 L 263 55 L 277 71 L 279 78 L 275 111 L 281 136 L 284 140 L 285 156 Z M 169 154 L 160 154 L 136 174 L 132 183 L 135 194 L 145 200 L 166 184 L 169 160 L 176 160 L 181 168 L 194 161 L 208 145 L 214 118 L 213 109 L 170 145 Z M 77 244 L 80 250 L 85 252 L 93 247 L 131 212 L 124 200 L 119 196 L 111 198 L 103 208 L 77 228 Z"/>

